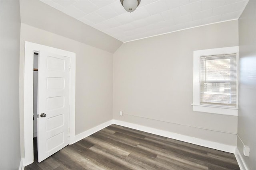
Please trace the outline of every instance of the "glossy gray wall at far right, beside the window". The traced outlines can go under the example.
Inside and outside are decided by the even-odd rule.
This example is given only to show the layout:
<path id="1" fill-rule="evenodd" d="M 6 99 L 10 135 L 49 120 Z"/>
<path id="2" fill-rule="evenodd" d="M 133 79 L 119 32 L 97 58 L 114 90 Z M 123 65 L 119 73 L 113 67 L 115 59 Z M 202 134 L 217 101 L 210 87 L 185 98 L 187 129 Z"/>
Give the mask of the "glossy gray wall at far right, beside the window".
<path id="1" fill-rule="evenodd" d="M 256 170 L 256 0 L 250 0 L 239 18 L 239 111 L 237 147 L 250 147 L 242 157 L 250 170 Z"/>

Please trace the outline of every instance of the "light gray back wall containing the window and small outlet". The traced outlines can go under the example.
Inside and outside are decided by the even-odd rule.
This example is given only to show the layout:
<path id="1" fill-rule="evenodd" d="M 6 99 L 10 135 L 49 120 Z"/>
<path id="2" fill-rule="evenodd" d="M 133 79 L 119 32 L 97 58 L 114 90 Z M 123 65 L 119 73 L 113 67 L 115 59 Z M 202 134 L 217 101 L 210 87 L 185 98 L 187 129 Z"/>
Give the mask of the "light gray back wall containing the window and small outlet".
<path id="1" fill-rule="evenodd" d="M 232 46 L 237 20 L 124 43 L 114 53 L 114 119 L 236 146 L 237 116 L 191 106 L 193 51 Z"/>

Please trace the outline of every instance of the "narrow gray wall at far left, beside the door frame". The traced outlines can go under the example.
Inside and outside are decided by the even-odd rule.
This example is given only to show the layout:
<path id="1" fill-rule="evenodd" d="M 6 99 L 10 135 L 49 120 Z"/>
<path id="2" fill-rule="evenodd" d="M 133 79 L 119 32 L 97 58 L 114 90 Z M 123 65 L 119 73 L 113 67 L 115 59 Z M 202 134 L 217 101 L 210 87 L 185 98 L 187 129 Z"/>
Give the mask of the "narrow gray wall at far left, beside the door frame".
<path id="1" fill-rule="evenodd" d="M 20 165 L 19 126 L 20 6 L 0 0 L 0 169 Z"/>

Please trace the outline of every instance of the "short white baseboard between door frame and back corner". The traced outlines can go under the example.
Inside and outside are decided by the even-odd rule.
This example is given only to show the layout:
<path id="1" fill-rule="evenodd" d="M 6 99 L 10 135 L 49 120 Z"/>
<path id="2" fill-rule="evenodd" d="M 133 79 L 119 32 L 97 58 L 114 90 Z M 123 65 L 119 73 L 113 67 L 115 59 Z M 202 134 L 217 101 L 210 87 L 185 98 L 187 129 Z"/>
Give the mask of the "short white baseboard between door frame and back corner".
<path id="1" fill-rule="evenodd" d="M 90 135 L 100 131 L 101 129 L 104 129 L 105 127 L 108 127 L 109 125 L 112 125 L 112 124 L 113 124 L 113 120 L 110 120 L 110 121 L 102 123 L 102 124 L 100 124 L 100 125 L 98 125 L 96 127 L 93 127 L 92 129 L 84 131 L 84 132 L 76 135 L 75 136 L 75 140 L 72 141 L 72 143 L 70 143 L 70 144 L 76 143 L 76 142 L 78 142 L 78 141 L 80 141 L 80 140 L 82 140 L 82 139 L 84 139 L 84 138 L 86 138 L 86 137 L 88 137 L 88 136 L 90 136 Z"/>

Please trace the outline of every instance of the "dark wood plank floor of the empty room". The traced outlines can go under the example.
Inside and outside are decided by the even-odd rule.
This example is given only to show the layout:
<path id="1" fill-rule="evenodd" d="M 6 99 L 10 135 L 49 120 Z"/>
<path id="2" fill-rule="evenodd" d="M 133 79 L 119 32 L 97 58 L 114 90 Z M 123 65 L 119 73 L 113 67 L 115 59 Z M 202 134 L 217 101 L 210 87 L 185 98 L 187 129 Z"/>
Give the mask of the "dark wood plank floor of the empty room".
<path id="1" fill-rule="evenodd" d="M 234 154 L 110 125 L 25 170 L 239 170 Z"/>

